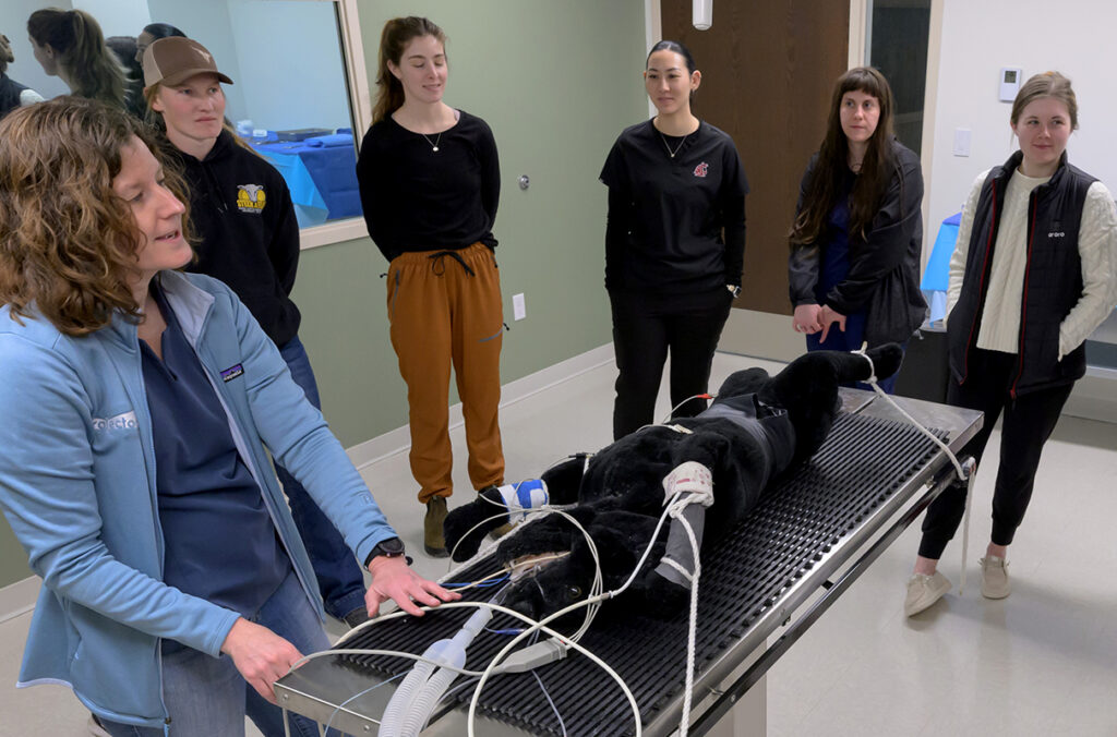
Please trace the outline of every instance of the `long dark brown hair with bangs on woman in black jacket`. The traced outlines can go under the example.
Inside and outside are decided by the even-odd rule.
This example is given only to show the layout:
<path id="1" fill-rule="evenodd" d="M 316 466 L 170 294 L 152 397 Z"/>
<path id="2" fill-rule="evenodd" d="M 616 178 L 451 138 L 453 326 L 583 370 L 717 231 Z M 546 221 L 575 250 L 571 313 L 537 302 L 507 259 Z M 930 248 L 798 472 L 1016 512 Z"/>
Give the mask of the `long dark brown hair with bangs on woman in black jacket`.
<path id="1" fill-rule="evenodd" d="M 827 135 L 819 149 L 811 180 L 806 184 L 803 207 L 791 227 L 791 248 L 815 245 L 824 232 L 827 219 L 838 198 L 838 189 L 849 169 L 849 141 L 841 130 L 841 100 L 849 92 L 861 92 L 877 98 L 880 117 L 877 130 L 861 161 L 861 170 L 850 192 L 849 233 L 863 238 L 880 201 L 888 190 L 896 168 L 892 153 L 892 90 L 885 75 L 872 67 L 856 67 L 838 77 L 830 100 Z"/>

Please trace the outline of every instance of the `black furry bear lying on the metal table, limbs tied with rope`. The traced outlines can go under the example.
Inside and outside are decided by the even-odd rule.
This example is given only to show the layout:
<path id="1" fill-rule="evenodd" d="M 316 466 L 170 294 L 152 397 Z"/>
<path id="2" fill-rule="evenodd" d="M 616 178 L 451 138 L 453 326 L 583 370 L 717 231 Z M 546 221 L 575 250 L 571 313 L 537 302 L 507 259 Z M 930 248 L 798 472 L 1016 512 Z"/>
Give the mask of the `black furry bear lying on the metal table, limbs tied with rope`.
<path id="1" fill-rule="evenodd" d="M 741 521 L 770 480 L 809 459 L 822 444 L 841 405 L 839 385 L 867 381 L 873 373 L 877 379 L 892 375 L 904 352 L 887 344 L 867 356 L 868 361 L 855 353 L 818 351 L 800 356 L 775 376 L 763 368 L 738 371 L 725 380 L 701 414 L 643 428 L 596 453 L 574 456 L 548 469 L 543 475 L 548 502 L 576 505 L 566 513 L 593 538 L 604 591 L 619 587 L 631 575 L 672 494 L 670 484 L 680 475 L 690 481 L 701 477 L 699 486 L 703 481 L 706 488 L 713 486 L 713 505 L 696 505 L 686 513 L 703 546 Z M 505 500 L 498 491 L 483 497 L 446 519 L 446 542 L 456 561 L 472 557 L 484 536 L 509 520 L 499 514 Z M 494 515 L 498 516 L 486 520 Z M 506 538 L 496 553 L 505 564 L 565 552 L 569 555 L 515 581 L 504 604 L 540 619 L 584 599 L 594 573 L 584 535 L 561 515 L 529 520 Z M 676 563 L 665 562 L 665 555 Z M 665 524 L 648 562 L 620 601 L 627 599 L 660 616 L 685 610 L 686 574 L 694 570 L 690 556 L 678 523 Z"/>

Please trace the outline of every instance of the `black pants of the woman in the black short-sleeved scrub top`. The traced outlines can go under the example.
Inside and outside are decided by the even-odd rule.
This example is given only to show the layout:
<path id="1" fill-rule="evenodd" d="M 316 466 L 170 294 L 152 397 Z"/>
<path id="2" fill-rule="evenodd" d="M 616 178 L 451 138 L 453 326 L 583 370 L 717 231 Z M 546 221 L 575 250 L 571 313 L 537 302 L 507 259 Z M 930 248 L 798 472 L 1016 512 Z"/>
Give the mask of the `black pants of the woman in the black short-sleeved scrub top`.
<path id="1" fill-rule="evenodd" d="M 613 351 L 617 354 L 617 401 L 613 440 L 655 422 L 656 394 L 671 352 L 671 406 L 709 384 L 709 368 L 733 297 L 722 288 L 698 295 L 685 306 L 663 305 L 655 295 L 610 291 L 613 312 Z M 674 417 L 694 417 L 706 400 L 691 400 Z"/>

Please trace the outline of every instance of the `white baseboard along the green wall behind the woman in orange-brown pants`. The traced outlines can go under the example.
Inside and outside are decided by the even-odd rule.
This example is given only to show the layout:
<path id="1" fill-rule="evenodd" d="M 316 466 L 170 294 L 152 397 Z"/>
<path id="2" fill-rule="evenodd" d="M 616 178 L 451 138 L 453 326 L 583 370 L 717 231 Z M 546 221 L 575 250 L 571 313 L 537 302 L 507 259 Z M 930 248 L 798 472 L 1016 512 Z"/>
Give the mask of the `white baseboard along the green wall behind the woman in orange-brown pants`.
<path id="1" fill-rule="evenodd" d="M 566 358 L 502 386 L 500 406 L 505 408 L 515 404 L 533 394 L 537 394 L 565 381 L 570 381 L 574 376 L 612 362 L 613 346 L 611 343 Z M 461 427 L 462 422 L 461 403 L 459 402 L 450 406 L 450 428 Z M 408 425 L 403 425 L 349 448 L 349 456 L 357 470 L 363 470 L 385 458 L 407 452 L 409 448 L 411 448 L 411 433 L 408 430 Z"/>

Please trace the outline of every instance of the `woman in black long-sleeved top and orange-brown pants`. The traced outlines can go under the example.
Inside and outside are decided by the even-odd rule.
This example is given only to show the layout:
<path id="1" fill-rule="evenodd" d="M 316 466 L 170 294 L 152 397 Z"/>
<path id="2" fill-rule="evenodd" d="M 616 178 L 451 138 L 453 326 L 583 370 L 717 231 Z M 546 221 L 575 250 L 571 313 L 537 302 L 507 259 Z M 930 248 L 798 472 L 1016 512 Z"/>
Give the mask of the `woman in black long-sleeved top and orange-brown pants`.
<path id="1" fill-rule="evenodd" d="M 504 482 L 500 442 L 500 276 L 493 236 L 500 164 L 481 118 L 442 102 L 446 36 L 426 18 L 388 21 L 373 125 L 356 176 L 369 234 L 388 267 L 388 316 L 408 384 L 411 473 L 428 554 L 446 556 L 442 520 L 454 491 L 450 366 L 457 377 L 478 490 Z"/>

